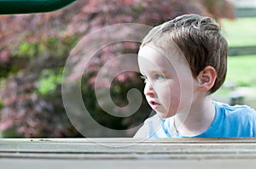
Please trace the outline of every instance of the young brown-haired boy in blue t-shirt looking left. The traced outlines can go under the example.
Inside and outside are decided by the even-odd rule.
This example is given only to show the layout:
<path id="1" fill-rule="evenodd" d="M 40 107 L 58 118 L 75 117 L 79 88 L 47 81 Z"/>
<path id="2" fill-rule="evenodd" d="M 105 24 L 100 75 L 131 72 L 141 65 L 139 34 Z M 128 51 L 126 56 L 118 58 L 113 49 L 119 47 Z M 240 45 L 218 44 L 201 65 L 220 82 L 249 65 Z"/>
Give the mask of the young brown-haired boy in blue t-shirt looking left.
<path id="1" fill-rule="evenodd" d="M 219 31 L 211 18 L 185 14 L 144 37 L 138 65 L 156 115 L 135 138 L 256 136 L 255 110 L 212 101 L 227 70 L 228 45 Z"/>

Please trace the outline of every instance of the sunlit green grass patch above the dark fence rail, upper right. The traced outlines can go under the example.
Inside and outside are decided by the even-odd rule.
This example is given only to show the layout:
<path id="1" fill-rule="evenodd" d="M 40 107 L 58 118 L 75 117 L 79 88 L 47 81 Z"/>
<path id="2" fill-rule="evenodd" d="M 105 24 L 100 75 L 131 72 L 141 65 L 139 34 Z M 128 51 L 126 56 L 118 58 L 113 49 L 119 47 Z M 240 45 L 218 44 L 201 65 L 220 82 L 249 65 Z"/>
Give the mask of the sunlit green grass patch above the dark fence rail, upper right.
<path id="1" fill-rule="evenodd" d="M 224 19 L 221 25 L 230 47 L 256 46 L 256 17 Z"/>

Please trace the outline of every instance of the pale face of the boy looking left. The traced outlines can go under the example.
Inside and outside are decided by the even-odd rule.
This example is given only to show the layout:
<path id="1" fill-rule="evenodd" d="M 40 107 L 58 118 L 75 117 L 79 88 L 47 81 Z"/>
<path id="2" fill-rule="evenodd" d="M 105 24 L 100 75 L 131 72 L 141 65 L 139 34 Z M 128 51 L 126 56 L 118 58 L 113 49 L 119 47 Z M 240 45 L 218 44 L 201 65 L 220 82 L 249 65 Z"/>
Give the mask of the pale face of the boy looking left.
<path id="1" fill-rule="evenodd" d="M 144 94 L 160 118 L 188 111 L 195 79 L 184 57 L 175 51 L 167 54 L 154 45 L 145 45 L 138 53 L 139 69 L 145 78 Z M 189 106 L 189 107 L 188 107 Z"/>

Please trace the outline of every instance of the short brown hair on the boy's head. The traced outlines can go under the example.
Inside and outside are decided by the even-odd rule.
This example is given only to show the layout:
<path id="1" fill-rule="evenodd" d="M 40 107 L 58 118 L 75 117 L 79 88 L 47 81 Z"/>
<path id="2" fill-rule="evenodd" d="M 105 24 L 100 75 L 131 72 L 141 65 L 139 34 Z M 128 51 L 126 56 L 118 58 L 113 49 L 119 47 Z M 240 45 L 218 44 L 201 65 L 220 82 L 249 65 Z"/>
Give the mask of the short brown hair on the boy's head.
<path id="1" fill-rule="evenodd" d="M 214 93 L 224 83 L 228 43 L 220 34 L 220 26 L 215 20 L 198 14 L 178 16 L 149 31 L 143 39 L 142 47 L 149 42 L 163 44 L 163 41 L 167 45 L 172 41 L 177 44 L 195 78 L 207 65 L 216 70 L 217 78 L 209 93 Z"/>

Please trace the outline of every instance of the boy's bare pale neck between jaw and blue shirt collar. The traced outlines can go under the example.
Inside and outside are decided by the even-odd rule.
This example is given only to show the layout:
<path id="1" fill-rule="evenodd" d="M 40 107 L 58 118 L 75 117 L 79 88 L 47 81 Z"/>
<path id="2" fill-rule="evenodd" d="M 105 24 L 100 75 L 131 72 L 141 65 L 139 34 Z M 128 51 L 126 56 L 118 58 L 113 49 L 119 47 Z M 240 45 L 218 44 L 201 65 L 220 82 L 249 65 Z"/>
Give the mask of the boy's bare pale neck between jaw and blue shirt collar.
<path id="1" fill-rule="evenodd" d="M 189 114 L 177 114 L 174 116 L 173 127 L 182 136 L 192 137 L 206 132 L 215 117 L 215 107 L 212 97 L 208 95 L 203 99 L 196 99 L 191 105 Z"/>

